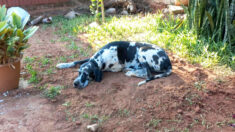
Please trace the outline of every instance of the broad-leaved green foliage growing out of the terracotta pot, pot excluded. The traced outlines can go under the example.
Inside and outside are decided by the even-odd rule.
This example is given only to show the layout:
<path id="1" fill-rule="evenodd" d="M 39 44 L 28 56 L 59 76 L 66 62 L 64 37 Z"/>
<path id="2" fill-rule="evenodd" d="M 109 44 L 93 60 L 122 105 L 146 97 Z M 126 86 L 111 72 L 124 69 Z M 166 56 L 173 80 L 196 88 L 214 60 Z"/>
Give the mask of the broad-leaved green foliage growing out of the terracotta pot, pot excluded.
<path id="1" fill-rule="evenodd" d="M 22 57 L 22 51 L 29 47 L 28 39 L 37 31 L 38 27 L 33 26 L 25 29 L 29 20 L 16 13 L 6 16 L 5 5 L 0 5 L 0 64 L 7 64 Z"/>

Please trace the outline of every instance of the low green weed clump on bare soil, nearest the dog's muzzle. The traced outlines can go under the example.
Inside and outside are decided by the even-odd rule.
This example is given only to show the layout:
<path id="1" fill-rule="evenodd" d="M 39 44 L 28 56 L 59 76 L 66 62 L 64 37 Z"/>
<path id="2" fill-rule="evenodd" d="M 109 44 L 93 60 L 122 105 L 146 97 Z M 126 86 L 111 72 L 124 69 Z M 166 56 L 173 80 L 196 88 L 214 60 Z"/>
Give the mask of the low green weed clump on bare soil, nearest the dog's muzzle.
<path id="1" fill-rule="evenodd" d="M 63 86 L 52 86 L 49 89 L 46 89 L 43 94 L 45 97 L 49 99 L 55 98 L 57 95 L 61 93 L 61 89 L 63 89 Z"/>

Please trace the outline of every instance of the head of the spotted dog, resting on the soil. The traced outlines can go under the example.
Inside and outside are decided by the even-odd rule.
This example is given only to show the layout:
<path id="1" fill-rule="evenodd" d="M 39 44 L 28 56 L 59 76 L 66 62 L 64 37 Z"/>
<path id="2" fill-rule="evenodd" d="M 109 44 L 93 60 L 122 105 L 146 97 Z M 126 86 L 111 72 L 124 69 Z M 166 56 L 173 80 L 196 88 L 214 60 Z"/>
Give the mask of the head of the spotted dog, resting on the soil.
<path id="1" fill-rule="evenodd" d="M 91 80 L 101 82 L 103 73 L 95 62 L 88 61 L 80 66 L 79 75 L 74 80 L 75 88 L 85 88 Z"/>

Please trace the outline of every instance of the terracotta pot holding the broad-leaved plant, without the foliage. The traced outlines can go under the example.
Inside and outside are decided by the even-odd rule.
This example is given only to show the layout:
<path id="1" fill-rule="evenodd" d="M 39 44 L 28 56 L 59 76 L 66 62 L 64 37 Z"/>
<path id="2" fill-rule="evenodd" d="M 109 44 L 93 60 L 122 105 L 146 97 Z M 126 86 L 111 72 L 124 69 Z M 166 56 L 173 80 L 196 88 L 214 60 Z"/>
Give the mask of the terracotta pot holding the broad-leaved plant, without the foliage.
<path id="1" fill-rule="evenodd" d="M 0 65 L 0 93 L 16 89 L 20 79 L 20 60 Z"/>

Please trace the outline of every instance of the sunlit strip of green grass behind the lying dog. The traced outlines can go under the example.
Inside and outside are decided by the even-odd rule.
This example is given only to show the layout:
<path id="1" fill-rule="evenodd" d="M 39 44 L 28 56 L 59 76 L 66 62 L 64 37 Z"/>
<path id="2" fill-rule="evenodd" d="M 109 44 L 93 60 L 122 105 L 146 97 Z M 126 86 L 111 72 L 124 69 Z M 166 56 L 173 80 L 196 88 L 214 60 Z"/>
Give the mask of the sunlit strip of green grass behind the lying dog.
<path id="1" fill-rule="evenodd" d="M 106 18 L 106 22 L 98 27 L 89 27 L 89 23 L 93 21 L 92 16 L 81 16 L 73 20 L 56 17 L 54 21 L 54 25 L 60 28 L 57 32 L 62 38 L 66 40 L 69 39 L 68 35 L 75 37 L 77 34 L 85 33 L 87 41 L 96 50 L 111 41 L 144 41 L 172 51 L 193 64 L 199 63 L 212 69 L 217 66 L 225 67 L 222 68 L 221 74 L 230 74 L 232 69 L 235 69 L 234 47 L 203 38 L 197 40 L 195 32 L 187 26 L 187 21 L 182 23 L 173 16 L 164 17 L 160 13 L 145 16 L 114 16 Z M 71 49 L 77 47 L 71 45 Z"/>

